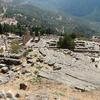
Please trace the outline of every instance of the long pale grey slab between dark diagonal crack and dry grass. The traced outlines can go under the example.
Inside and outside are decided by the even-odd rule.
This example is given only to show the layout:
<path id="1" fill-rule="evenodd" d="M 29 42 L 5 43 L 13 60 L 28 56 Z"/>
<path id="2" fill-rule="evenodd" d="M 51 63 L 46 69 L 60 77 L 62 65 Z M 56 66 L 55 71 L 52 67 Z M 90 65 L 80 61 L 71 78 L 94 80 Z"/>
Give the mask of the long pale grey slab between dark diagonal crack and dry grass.
<path id="1" fill-rule="evenodd" d="M 82 89 L 84 91 L 90 91 L 91 89 L 96 89 L 98 86 L 89 83 L 89 82 L 85 82 L 83 80 L 74 78 L 70 75 L 64 75 L 64 73 L 60 73 L 60 72 L 40 72 L 39 73 L 40 76 L 42 77 L 46 77 L 48 79 L 57 81 L 57 82 L 61 82 L 64 84 L 69 84 L 73 87 L 78 87 L 79 89 Z"/>

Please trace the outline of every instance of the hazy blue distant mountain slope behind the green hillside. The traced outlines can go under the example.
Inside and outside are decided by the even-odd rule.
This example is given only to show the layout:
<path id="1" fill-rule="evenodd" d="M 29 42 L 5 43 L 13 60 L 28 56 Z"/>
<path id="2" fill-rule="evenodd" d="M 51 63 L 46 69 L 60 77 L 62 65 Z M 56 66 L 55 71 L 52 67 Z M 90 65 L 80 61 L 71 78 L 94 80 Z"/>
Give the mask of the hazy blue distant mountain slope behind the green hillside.
<path id="1" fill-rule="evenodd" d="M 100 0 L 27 0 L 31 4 L 44 9 L 71 14 L 72 16 L 90 16 L 91 21 L 99 21 Z M 97 13 L 94 13 L 97 12 Z M 91 16 L 92 14 L 92 16 Z M 97 16 L 97 17 L 96 17 Z M 84 17 L 85 18 L 85 17 Z M 97 19 L 99 20 L 97 20 Z M 93 20 L 92 20 L 93 19 Z"/>

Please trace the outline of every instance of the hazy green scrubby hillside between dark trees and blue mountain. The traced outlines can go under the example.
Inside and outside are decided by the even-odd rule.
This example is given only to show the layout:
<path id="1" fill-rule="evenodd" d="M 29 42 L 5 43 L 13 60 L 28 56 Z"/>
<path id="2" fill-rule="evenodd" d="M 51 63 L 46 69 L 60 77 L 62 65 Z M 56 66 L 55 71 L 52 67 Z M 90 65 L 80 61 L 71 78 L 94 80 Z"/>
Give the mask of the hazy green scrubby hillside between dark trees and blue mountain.
<path id="1" fill-rule="evenodd" d="M 14 4 L 14 3 L 13 3 Z M 53 30 L 53 33 L 80 32 L 86 35 L 98 33 L 97 25 L 94 27 L 88 21 L 61 12 L 44 10 L 29 3 L 18 2 L 8 7 L 6 17 L 16 17 L 23 25 L 43 26 Z"/>

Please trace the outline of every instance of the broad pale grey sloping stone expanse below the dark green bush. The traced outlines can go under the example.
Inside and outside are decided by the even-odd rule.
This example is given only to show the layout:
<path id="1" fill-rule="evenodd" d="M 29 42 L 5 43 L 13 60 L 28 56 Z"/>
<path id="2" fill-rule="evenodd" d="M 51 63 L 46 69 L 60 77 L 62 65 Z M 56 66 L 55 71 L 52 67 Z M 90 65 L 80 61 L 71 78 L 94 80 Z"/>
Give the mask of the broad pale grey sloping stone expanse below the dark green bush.
<path id="1" fill-rule="evenodd" d="M 53 65 L 54 71 L 47 70 L 39 74 L 83 91 L 96 89 L 100 86 L 100 70 L 93 66 L 97 64 L 99 68 L 100 61 L 97 58 L 95 62 L 91 62 L 91 57 L 82 53 L 72 52 L 72 55 L 65 55 L 60 51 L 47 50 L 44 63 Z"/>

